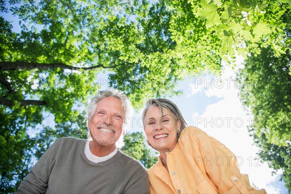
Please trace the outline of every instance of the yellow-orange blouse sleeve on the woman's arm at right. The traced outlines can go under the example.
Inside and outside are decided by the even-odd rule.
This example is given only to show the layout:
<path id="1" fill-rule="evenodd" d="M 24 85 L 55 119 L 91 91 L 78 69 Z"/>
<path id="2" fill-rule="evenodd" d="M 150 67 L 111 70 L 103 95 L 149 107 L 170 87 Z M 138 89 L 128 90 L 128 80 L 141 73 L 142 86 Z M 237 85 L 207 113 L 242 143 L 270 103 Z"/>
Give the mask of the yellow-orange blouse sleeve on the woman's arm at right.
<path id="1" fill-rule="evenodd" d="M 185 131 L 186 132 L 186 131 Z M 250 186 L 248 175 L 241 174 L 236 156 L 218 140 L 198 128 L 187 130 L 197 143 L 207 175 L 220 194 L 266 194 Z"/>

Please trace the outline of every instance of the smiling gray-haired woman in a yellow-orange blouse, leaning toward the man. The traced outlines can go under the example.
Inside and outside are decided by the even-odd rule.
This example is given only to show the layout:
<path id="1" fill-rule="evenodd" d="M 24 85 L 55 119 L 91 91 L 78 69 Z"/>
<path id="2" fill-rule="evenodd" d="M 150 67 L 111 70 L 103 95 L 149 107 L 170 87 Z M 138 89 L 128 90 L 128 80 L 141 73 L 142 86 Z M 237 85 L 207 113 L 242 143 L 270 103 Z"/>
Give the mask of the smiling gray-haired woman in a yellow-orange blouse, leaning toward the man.
<path id="1" fill-rule="evenodd" d="M 147 141 L 160 152 L 159 161 L 147 171 L 151 194 L 266 194 L 250 186 L 225 145 L 187 127 L 172 101 L 148 100 L 143 118 Z"/>

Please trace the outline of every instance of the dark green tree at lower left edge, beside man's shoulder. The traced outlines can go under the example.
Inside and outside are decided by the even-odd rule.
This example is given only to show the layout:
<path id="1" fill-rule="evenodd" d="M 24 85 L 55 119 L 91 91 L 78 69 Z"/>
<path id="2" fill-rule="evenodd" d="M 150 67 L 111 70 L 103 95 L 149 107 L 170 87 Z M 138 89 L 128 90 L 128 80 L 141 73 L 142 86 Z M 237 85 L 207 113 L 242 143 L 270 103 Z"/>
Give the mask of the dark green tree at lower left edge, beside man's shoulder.
<path id="1" fill-rule="evenodd" d="M 13 193 L 18 185 L 13 180 L 23 179 L 32 167 L 31 149 L 35 142 L 25 132 L 26 119 L 17 119 L 3 107 L 0 110 L 0 192 Z"/>

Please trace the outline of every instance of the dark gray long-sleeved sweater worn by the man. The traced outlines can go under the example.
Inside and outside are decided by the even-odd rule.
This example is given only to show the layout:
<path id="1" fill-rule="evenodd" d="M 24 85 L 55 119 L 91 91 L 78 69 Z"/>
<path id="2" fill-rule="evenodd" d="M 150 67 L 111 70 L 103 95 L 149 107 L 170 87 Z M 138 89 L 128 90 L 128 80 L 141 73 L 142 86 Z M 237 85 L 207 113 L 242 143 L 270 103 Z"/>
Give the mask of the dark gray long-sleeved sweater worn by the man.
<path id="1" fill-rule="evenodd" d="M 21 193 L 149 194 L 146 169 L 120 150 L 109 160 L 91 162 L 86 140 L 61 138 L 44 153 L 18 187 Z"/>

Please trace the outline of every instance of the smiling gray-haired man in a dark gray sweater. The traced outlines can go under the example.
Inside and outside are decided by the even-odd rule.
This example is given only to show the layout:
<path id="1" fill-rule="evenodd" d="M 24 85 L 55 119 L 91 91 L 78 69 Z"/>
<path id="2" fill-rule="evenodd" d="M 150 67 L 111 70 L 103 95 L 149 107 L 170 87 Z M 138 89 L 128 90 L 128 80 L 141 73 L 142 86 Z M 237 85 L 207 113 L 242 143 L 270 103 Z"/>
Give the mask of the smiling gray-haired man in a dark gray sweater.
<path id="1" fill-rule="evenodd" d="M 145 168 L 118 149 L 132 113 L 122 92 L 100 91 L 86 108 L 88 139 L 57 140 L 16 193 L 148 194 Z"/>

